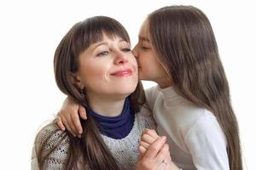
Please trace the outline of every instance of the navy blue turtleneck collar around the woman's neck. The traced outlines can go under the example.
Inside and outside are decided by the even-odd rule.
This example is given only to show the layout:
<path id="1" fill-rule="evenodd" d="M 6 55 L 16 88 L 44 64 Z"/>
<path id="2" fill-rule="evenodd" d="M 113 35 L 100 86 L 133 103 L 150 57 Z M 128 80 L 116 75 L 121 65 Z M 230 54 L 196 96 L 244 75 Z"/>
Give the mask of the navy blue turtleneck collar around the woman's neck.
<path id="1" fill-rule="evenodd" d="M 125 99 L 123 111 L 119 116 L 102 116 L 91 110 L 86 111 L 99 123 L 101 133 L 110 138 L 123 139 L 131 132 L 134 122 L 134 111 L 131 108 L 129 98 Z"/>

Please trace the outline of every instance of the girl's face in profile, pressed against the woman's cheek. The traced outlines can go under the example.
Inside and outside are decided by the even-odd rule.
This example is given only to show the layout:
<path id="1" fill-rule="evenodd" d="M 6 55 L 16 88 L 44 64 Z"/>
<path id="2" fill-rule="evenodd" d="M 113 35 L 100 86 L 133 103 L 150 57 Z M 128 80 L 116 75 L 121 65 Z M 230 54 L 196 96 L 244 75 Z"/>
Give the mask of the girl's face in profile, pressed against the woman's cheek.
<path id="1" fill-rule="evenodd" d="M 137 59 L 139 79 L 157 82 L 160 87 L 170 86 L 170 80 L 166 70 L 160 64 L 158 56 L 154 53 L 154 48 L 150 42 L 148 32 L 148 21 L 145 20 L 138 36 L 138 42 L 133 48 L 133 54 Z"/>

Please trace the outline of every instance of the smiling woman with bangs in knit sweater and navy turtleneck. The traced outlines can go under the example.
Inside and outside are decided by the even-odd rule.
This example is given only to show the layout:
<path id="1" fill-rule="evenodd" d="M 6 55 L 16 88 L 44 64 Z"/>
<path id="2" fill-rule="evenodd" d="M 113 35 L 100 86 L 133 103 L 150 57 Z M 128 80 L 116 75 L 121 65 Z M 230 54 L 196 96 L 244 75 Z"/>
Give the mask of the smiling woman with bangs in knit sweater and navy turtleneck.
<path id="1" fill-rule="evenodd" d="M 89 120 L 81 122 L 81 139 L 55 123 L 44 127 L 35 139 L 32 169 L 134 169 L 140 134 L 155 124 L 141 107 L 143 88 L 125 28 L 104 16 L 77 23 L 56 48 L 54 68 L 58 87 L 86 108 Z M 154 153 L 155 169 L 171 169 L 165 140 L 154 143 L 159 153 L 146 153 Z M 136 168 L 143 169 L 143 158 Z"/>

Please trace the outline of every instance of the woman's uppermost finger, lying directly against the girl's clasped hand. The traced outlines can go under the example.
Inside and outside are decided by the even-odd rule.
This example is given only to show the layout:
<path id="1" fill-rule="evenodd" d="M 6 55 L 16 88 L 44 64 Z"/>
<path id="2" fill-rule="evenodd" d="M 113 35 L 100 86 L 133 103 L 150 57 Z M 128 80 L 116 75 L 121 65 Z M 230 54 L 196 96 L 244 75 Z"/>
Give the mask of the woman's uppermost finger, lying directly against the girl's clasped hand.
<path id="1" fill-rule="evenodd" d="M 151 144 L 148 147 L 148 150 L 145 153 L 145 157 L 148 159 L 153 159 L 155 156 L 157 156 L 160 149 L 163 147 L 163 145 L 166 143 L 166 136 L 162 136 L 154 141 L 153 144 Z"/>

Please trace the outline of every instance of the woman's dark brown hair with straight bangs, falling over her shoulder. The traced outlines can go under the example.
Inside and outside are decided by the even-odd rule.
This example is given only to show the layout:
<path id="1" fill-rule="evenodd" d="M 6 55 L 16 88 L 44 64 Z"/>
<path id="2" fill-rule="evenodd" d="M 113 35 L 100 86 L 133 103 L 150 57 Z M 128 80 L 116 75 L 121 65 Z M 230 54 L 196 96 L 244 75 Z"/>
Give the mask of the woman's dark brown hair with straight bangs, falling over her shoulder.
<path id="1" fill-rule="evenodd" d="M 75 24 L 66 36 L 62 38 L 58 47 L 55 50 L 54 69 L 55 69 L 55 81 L 58 87 L 64 94 L 71 96 L 80 105 L 89 108 L 88 100 L 79 88 L 73 83 L 72 73 L 79 70 L 78 56 L 92 43 L 102 40 L 102 33 L 106 33 L 108 36 L 118 36 L 125 41 L 130 42 L 130 38 L 125 31 L 125 28 L 112 18 L 105 16 L 96 16 L 87 20 L 81 21 Z M 131 94 L 131 105 L 134 111 L 139 111 L 140 105 L 144 103 L 144 94 L 142 83 L 139 82 L 136 91 Z M 78 161 L 84 166 L 84 169 L 119 169 L 116 161 L 114 160 L 111 152 L 108 150 L 106 144 L 102 141 L 97 123 L 93 117 L 88 115 L 86 121 L 82 121 L 82 127 L 84 133 L 81 139 L 76 139 L 69 132 L 62 133 L 62 139 L 60 143 L 55 144 L 49 153 L 45 152 L 46 144 L 55 132 L 49 135 L 43 144 L 38 149 L 38 164 L 40 169 L 43 169 L 44 163 L 50 153 L 55 151 L 61 141 L 68 135 L 69 149 L 68 159 L 65 163 L 65 169 L 78 169 Z M 44 155 L 43 155 L 44 153 Z"/>

